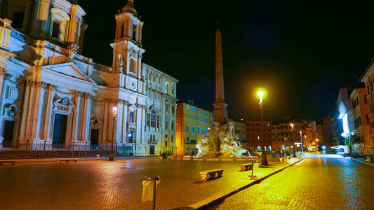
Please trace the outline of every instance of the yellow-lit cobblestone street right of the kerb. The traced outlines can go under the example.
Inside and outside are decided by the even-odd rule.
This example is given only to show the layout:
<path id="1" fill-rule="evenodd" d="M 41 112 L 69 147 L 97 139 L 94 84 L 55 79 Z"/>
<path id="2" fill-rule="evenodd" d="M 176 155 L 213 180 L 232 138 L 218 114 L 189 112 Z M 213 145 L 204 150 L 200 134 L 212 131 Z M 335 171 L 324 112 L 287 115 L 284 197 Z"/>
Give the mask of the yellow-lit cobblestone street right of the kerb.
<path id="1" fill-rule="evenodd" d="M 374 167 L 311 155 L 212 209 L 374 209 Z"/>

